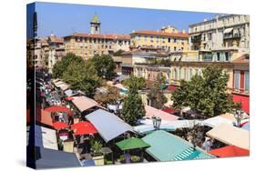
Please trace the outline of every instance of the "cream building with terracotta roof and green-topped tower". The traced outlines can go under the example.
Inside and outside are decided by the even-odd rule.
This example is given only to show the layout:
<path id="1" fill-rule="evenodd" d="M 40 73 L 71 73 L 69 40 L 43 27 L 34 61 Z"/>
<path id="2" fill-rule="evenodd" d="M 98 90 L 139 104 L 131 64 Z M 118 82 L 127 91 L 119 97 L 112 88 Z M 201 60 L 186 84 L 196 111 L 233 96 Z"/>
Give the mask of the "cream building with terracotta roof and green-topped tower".
<path id="1" fill-rule="evenodd" d="M 74 53 L 86 60 L 94 55 L 111 55 L 118 50 L 129 50 L 130 35 L 100 34 L 101 23 L 97 15 L 94 15 L 90 25 L 90 34 L 74 33 L 64 37 L 66 54 Z"/>

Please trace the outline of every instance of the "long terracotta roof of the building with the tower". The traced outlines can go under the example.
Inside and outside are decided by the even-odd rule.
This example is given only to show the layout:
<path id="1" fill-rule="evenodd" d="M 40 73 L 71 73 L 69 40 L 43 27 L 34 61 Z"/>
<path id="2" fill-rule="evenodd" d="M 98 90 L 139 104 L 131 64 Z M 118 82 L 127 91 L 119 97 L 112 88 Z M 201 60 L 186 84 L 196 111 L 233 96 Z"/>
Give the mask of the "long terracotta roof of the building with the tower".
<path id="1" fill-rule="evenodd" d="M 103 39 L 113 39 L 113 40 L 129 40 L 130 35 L 105 35 L 105 34 L 83 34 L 83 33 L 75 33 L 71 36 L 81 36 L 81 37 L 89 37 L 89 38 L 103 38 Z"/>

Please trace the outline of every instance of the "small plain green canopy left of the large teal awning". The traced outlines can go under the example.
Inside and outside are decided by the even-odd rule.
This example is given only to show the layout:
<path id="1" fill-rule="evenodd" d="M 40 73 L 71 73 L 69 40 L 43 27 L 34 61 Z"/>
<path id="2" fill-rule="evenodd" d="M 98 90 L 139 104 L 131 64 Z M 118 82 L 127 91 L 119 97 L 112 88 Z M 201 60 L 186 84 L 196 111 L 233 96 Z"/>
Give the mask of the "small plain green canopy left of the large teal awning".
<path id="1" fill-rule="evenodd" d="M 116 145 L 121 150 L 144 148 L 149 146 L 148 143 L 145 143 L 145 141 L 137 137 L 131 137 L 131 138 L 119 141 L 118 143 L 116 143 Z"/>

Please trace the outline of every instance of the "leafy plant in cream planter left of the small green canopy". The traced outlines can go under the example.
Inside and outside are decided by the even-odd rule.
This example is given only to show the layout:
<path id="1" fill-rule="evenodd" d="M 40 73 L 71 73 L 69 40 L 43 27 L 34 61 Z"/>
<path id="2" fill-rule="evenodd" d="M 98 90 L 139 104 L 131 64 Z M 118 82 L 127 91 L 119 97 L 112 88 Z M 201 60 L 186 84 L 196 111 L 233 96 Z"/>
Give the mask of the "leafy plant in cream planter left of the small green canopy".
<path id="1" fill-rule="evenodd" d="M 92 141 L 91 148 L 93 151 L 92 159 L 95 161 L 95 165 L 104 165 L 104 155 L 100 152 L 102 148 L 100 141 Z"/>

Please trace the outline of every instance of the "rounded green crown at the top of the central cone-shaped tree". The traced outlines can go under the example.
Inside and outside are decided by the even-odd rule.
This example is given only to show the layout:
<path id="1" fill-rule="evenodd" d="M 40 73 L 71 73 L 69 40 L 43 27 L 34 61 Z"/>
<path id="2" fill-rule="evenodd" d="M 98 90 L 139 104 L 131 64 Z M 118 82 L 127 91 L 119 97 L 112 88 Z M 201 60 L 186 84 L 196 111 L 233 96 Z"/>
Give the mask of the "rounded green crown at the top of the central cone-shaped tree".
<path id="1" fill-rule="evenodd" d="M 138 92 L 143 87 L 146 87 L 146 80 L 144 77 L 137 77 L 135 75 L 131 75 L 127 80 L 123 83 L 126 87 L 128 87 L 128 90 L 133 92 Z"/>

